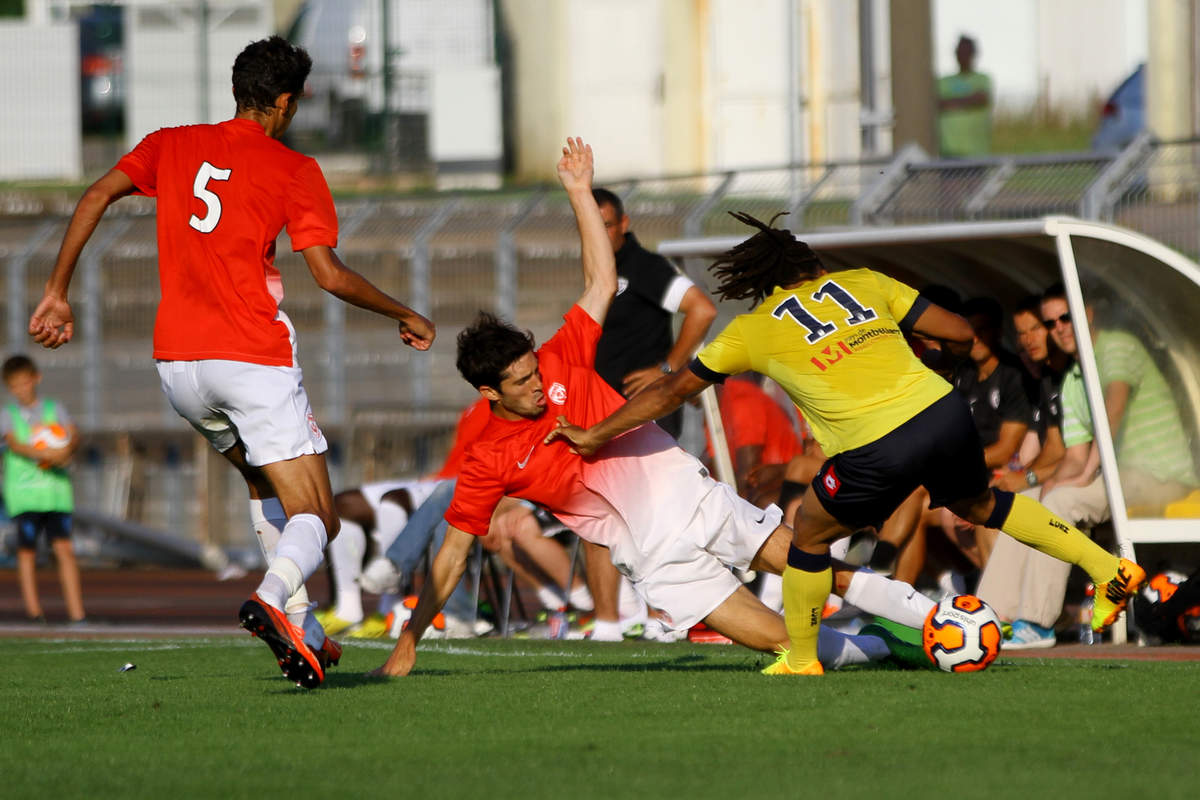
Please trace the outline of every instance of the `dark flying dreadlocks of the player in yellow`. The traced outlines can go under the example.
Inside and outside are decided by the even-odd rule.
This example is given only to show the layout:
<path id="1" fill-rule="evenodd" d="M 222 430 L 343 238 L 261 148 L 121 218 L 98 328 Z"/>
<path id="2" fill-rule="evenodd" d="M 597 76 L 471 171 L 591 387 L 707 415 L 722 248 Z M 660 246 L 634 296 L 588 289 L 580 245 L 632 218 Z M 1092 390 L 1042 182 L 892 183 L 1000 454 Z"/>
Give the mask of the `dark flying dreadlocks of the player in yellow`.
<path id="1" fill-rule="evenodd" d="M 764 223 L 749 213 L 730 211 L 730 216 L 757 228 L 758 233 L 725 252 L 708 267 L 720 282 L 716 294 L 724 300 L 750 297 L 758 305 L 775 287 L 817 276 L 823 265 L 812 248 L 796 239 L 791 230 L 774 227 L 775 219 L 785 213 L 787 211 L 780 211 Z"/>

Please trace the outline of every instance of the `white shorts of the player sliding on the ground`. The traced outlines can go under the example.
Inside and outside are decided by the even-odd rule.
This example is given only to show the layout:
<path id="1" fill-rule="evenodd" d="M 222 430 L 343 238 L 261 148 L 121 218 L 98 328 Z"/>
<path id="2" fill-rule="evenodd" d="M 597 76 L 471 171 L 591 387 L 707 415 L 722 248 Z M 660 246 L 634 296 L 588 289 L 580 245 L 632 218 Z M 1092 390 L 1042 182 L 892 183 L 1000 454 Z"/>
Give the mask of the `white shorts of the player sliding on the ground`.
<path id="1" fill-rule="evenodd" d="M 742 585 L 731 567 L 748 569 L 784 518 L 779 506 L 760 509 L 728 483 L 696 483 L 708 491 L 696 499 L 690 522 L 683 530 L 661 531 L 659 542 L 641 537 L 644 555 L 629 565 L 634 588 L 674 630 L 700 622 Z M 622 549 L 612 551 L 618 569 Z"/>

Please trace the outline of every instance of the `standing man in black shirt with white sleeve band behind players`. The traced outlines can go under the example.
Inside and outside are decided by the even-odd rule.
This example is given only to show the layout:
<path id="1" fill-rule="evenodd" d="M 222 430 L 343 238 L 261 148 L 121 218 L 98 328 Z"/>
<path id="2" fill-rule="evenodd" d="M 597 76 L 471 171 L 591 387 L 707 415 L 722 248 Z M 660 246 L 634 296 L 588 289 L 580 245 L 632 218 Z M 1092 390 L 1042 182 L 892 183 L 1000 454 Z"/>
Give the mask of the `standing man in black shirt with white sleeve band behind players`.
<path id="1" fill-rule="evenodd" d="M 617 254 L 617 296 L 596 345 L 596 372 L 610 386 L 632 397 L 665 373 L 686 366 L 716 318 L 716 306 L 671 261 L 642 247 L 629 230 L 620 198 L 605 188 L 592 191 Z M 683 314 L 679 337 L 672 337 L 672 315 Z M 678 410 L 659 420 L 678 438 Z"/>

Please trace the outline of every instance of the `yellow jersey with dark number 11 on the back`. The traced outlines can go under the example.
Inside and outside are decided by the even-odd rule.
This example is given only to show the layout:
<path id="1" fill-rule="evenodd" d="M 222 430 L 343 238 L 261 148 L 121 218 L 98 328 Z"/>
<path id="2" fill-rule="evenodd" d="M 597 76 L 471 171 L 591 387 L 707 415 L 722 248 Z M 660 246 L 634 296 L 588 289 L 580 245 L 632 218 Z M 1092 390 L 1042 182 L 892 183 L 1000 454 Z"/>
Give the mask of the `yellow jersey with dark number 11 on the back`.
<path id="1" fill-rule="evenodd" d="M 752 369 L 784 387 L 827 456 L 892 432 L 952 386 L 905 341 L 926 308 L 916 289 L 872 270 L 775 288 L 697 359 L 708 380 Z"/>

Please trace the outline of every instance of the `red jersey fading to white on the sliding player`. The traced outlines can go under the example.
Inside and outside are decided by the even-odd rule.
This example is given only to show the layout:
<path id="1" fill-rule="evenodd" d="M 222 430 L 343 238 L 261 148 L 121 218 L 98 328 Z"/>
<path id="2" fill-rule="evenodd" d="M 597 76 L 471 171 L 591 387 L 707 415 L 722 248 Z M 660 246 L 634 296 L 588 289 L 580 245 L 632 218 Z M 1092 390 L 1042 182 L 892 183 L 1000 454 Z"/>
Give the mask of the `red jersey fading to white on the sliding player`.
<path id="1" fill-rule="evenodd" d="M 455 528 L 487 534 L 504 495 L 545 506 L 580 536 L 601 545 L 620 535 L 614 522 L 636 530 L 654 525 L 654 515 L 678 516 L 678 509 L 647 501 L 653 497 L 648 493 L 655 483 L 670 485 L 676 469 L 695 476 L 700 464 L 659 426 L 640 426 L 590 458 L 571 453 L 562 439 L 542 444 L 559 415 L 588 427 L 625 402 L 593 368 L 600 325 L 578 306 L 564 319 L 536 353 L 546 410 L 516 421 L 490 414 L 479 439 L 467 447 L 445 516 Z"/>

